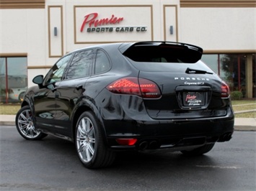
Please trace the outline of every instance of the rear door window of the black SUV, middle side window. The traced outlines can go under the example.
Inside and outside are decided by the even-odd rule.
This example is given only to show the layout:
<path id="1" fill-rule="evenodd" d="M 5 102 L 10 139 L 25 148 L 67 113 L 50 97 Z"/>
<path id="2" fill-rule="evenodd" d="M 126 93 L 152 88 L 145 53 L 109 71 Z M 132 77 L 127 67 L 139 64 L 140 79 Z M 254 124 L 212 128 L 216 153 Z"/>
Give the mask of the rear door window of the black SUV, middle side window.
<path id="1" fill-rule="evenodd" d="M 93 60 L 93 51 L 76 52 L 69 67 L 66 79 L 83 78 L 89 76 Z"/>

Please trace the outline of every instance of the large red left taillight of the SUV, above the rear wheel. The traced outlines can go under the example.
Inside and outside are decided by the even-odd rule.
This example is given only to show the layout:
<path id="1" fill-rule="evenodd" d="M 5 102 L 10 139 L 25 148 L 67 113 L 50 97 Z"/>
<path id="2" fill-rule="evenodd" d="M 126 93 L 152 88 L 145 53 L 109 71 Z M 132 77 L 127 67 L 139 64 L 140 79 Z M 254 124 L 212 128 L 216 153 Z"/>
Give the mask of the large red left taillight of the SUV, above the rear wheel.
<path id="1" fill-rule="evenodd" d="M 107 85 L 112 93 L 138 95 L 142 98 L 159 98 L 160 90 L 156 83 L 144 78 L 121 78 Z"/>

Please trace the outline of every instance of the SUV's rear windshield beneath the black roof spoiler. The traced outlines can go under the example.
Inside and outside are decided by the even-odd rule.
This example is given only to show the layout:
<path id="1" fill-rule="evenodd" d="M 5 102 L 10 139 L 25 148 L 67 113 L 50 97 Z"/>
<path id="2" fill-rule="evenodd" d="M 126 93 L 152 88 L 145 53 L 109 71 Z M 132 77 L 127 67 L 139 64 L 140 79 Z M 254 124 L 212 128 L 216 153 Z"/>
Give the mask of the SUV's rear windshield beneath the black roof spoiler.
<path id="1" fill-rule="evenodd" d="M 141 71 L 184 73 L 187 67 L 192 67 L 213 73 L 200 61 L 202 54 L 200 47 L 164 43 L 135 44 L 123 52 L 131 64 Z"/>

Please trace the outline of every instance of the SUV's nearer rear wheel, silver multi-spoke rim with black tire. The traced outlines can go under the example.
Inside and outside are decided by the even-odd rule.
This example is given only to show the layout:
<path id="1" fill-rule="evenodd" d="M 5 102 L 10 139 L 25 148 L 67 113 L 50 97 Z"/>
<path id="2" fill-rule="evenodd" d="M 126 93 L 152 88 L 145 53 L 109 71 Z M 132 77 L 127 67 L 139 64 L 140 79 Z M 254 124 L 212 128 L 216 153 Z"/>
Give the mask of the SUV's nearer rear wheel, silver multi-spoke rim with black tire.
<path id="1" fill-rule="evenodd" d="M 115 160 L 115 152 L 107 149 L 100 121 L 91 111 L 85 111 L 76 124 L 76 152 L 85 167 L 107 167 Z"/>

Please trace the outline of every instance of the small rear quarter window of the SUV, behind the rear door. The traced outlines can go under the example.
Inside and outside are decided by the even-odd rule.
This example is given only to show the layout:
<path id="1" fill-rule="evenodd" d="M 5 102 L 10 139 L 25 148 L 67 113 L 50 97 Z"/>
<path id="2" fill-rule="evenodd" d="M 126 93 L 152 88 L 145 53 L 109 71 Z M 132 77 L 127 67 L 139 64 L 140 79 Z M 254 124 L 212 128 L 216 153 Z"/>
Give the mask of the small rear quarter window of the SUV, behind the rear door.
<path id="1" fill-rule="evenodd" d="M 110 69 L 110 60 L 102 50 L 97 50 L 94 73 L 103 73 Z"/>

